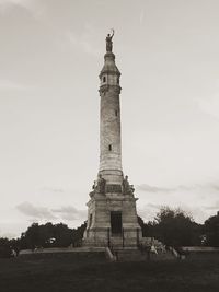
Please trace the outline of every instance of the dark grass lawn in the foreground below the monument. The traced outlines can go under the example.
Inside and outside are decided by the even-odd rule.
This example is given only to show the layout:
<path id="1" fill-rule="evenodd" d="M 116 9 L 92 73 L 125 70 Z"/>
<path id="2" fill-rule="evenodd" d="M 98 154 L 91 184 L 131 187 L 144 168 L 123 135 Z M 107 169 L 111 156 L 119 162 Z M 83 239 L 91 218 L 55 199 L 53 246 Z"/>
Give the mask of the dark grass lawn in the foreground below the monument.
<path id="1" fill-rule="evenodd" d="M 0 259 L 0 291 L 218 292 L 219 260 Z"/>

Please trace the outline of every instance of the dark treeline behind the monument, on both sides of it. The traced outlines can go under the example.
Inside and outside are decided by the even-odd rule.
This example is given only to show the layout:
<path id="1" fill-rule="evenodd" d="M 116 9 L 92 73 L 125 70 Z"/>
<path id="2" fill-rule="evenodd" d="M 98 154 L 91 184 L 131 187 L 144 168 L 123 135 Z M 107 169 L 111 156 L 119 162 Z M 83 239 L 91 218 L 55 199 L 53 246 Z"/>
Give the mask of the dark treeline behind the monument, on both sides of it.
<path id="1" fill-rule="evenodd" d="M 146 223 L 140 217 L 138 221 L 145 237 L 158 238 L 168 246 L 219 246 L 219 212 L 198 224 L 183 210 L 164 207 L 153 221 Z M 0 238 L 0 257 L 15 256 L 21 249 L 80 246 L 85 227 L 87 222 L 78 229 L 62 223 L 33 223 L 20 238 Z"/>

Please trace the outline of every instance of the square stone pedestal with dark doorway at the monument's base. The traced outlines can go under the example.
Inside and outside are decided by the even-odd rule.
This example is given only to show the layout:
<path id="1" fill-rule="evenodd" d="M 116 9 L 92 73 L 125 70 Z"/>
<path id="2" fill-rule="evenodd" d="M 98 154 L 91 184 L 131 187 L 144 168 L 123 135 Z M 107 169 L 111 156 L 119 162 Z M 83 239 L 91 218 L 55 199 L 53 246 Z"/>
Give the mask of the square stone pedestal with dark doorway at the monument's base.
<path id="1" fill-rule="evenodd" d="M 83 245 L 136 248 L 141 240 L 136 200 L 132 195 L 91 192 Z"/>

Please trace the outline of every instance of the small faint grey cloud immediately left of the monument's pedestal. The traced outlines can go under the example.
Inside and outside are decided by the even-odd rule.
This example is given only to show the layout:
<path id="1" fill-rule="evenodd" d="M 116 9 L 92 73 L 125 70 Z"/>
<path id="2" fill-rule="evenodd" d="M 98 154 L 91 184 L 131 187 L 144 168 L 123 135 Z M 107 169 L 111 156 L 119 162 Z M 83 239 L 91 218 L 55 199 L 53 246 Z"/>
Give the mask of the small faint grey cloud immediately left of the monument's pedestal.
<path id="1" fill-rule="evenodd" d="M 73 206 L 61 207 L 59 209 L 53 209 L 51 211 L 68 221 L 85 220 L 87 218 L 85 210 L 78 210 Z"/>

